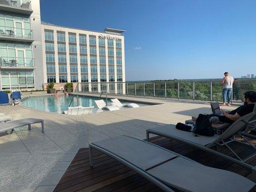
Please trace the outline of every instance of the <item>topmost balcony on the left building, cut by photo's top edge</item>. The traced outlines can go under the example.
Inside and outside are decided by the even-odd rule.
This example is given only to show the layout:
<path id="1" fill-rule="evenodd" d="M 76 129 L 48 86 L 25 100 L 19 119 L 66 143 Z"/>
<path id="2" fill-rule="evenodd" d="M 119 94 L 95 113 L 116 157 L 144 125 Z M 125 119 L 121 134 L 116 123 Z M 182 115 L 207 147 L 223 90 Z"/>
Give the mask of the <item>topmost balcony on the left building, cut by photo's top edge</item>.
<path id="1" fill-rule="evenodd" d="M 30 0 L 0 0 L 0 11 L 31 15 Z"/>

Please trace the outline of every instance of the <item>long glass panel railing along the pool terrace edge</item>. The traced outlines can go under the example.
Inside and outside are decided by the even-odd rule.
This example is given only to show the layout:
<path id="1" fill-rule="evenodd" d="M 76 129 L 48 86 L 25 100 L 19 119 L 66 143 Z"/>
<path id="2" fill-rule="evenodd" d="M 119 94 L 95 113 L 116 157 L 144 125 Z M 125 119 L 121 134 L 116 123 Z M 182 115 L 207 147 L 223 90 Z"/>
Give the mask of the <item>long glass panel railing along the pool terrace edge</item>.
<path id="1" fill-rule="evenodd" d="M 104 86 L 103 86 L 104 84 Z M 104 89 L 104 90 L 103 90 Z M 76 92 L 127 96 L 147 96 L 201 101 L 222 101 L 222 85 L 219 81 L 162 81 L 162 82 L 110 82 L 78 83 Z M 256 79 L 234 81 L 232 101 L 241 102 L 246 91 L 256 91 Z"/>

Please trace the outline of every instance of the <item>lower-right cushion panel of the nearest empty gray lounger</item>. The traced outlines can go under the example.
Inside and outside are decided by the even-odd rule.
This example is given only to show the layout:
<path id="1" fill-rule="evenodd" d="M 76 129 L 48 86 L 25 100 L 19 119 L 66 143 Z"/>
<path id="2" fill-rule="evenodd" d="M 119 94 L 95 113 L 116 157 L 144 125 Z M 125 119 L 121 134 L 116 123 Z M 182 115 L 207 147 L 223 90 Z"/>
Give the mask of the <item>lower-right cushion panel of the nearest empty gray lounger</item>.
<path id="1" fill-rule="evenodd" d="M 189 192 L 248 192 L 255 183 L 230 171 L 177 157 L 146 171 L 163 183 Z"/>

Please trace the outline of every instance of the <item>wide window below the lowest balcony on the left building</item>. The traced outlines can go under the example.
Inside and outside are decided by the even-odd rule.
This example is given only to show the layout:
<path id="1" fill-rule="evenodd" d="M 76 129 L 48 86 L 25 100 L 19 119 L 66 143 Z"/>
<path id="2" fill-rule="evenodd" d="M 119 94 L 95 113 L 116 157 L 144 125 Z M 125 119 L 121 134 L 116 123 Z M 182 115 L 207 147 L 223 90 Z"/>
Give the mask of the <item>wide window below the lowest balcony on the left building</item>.
<path id="1" fill-rule="evenodd" d="M 34 72 L 1 72 L 2 89 L 35 88 Z"/>

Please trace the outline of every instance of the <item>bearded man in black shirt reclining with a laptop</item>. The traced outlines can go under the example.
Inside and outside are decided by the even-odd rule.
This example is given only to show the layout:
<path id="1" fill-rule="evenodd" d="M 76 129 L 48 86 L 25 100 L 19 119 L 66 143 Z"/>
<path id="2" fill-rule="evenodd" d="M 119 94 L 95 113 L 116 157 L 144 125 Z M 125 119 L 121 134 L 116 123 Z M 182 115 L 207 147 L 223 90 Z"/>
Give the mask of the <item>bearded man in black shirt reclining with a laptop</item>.
<path id="1" fill-rule="evenodd" d="M 251 112 L 253 112 L 253 109 L 256 104 L 256 92 L 255 91 L 247 91 L 244 93 L 244 105 L 240 106 L 239 108 L 236 108 L 232 111 L 222 111 L 222 115 L 215 115 L 210 114 L 211 120 L 213 123 L 216 122 L 226 122 L 226 123 L 233 123 L 235 120 L 238 120 L 240 117 L 243 117 L 244 115 L 247 115 Z M 218 120 L 216 120 L 216 117 Z M 196 121 L 196 117 L 192 117 L 192 120 Z"/>

